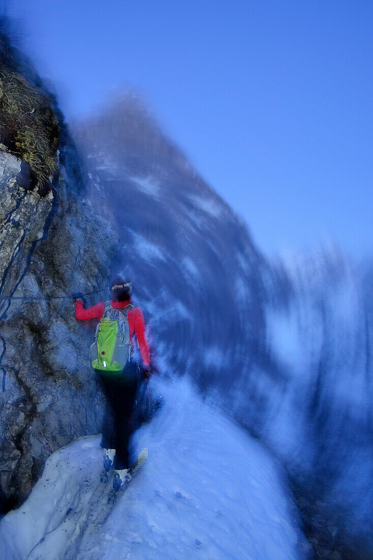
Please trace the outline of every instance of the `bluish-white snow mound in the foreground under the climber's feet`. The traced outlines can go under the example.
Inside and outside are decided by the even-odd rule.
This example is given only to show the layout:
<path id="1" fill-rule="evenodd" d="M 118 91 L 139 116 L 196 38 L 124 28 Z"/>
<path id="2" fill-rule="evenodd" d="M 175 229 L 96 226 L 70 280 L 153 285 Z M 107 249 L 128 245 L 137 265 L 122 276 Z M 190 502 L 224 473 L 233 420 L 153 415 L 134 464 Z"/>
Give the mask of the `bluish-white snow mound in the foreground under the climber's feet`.
<path id="1" fill-rule="evenodd" d="M 99 480 L 99 436 L 55 452 L 0 523 L 7 559 L 305 558 L 281 468 L 186 379 L 152 381 L 164 407 L 137 433 L 149 459 L 99 534 L 76 540 Z M 77 544 L 78 543 L 78 544 Z"/>

